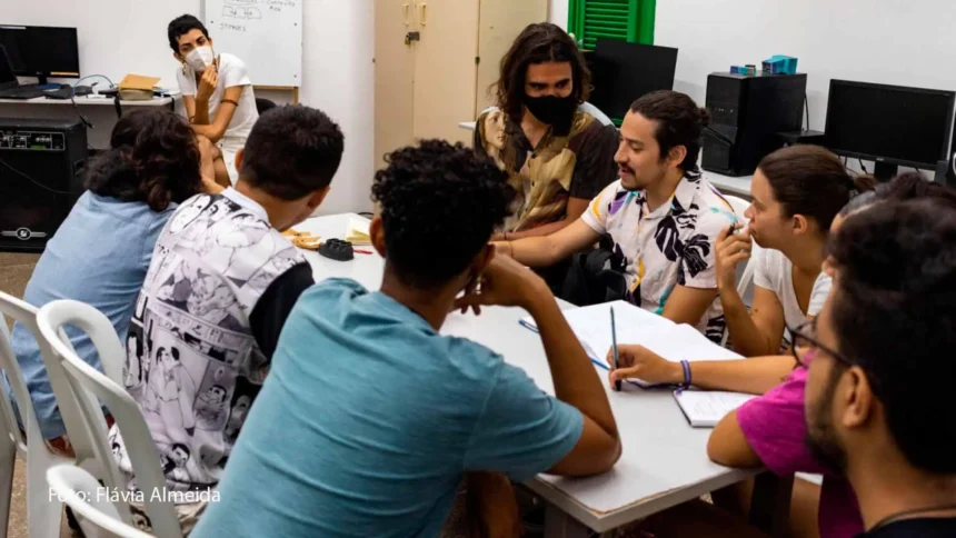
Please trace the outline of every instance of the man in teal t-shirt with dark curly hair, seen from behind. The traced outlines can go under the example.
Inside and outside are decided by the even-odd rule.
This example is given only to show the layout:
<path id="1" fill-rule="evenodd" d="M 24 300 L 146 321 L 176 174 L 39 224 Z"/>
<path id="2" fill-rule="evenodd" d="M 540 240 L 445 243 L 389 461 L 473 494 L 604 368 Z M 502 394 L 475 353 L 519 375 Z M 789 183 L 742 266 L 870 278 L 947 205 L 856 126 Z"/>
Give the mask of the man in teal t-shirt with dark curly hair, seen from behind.
<path id="1" fill-rule="evenodd" d="M 488 246 L 512 195 L 506 173 L 438 140 L 387 162 L 370 227 L 381 290 L 327 280 L 302 295 L 193 536 L 438 536 L 466 476 L 475 536 L 514 536 L 509 478 L 617 460 L 607 396 L 548 287 Z M 439 333 L 455 307 L 491 305 L 535 317 L 557 398 Z"/>

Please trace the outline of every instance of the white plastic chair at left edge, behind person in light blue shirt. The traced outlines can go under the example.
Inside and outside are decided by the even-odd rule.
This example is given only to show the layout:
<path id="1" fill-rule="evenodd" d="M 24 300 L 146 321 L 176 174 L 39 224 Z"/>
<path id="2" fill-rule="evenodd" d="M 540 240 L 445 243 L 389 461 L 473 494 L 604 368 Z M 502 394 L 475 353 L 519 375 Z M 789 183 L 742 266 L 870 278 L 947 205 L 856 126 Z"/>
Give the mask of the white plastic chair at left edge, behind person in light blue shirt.
<path id="1" fill-rule="evenodd" d="M 37 411 L 33 409 L 33 400 L 30 399 L 30 391 L 27 389 L 23 380 L 20 363 L 17 361 L 17 357 L 13 355 L 13 349 L 10 346 L 10 335 L 7 331 L 7 319 L 4 316 L 9 316 L 21 323 L 33 335 L 46 365 L 50 363 L 52 357 L 50 347 L 40 337 L 40 331 L 37 328 L 37 308 L 0 292 L 0 327 L 2 327 L 2 330 L 0 330 L 0 368 L 7 372 L 7 379 L 13 391 L 13 399 L 17 401 L 17 408 L 20 412 L 20 420 L 27 434 L 27 438 L 24 439 L 10 400 L 6 393 L 0 395 L 0 407 L 2 407 L 3 415 L 2 429 L 4 430 L 2 438 L 0 438 L 0 537 L 6 537 L 7 535 L 10 494 L 13 481 L 13 462 L 18 452 L 27 464 L 28 535 L 31 538 L 59 537 L 62 505 L 49 498 L 47 469 L 54 465 L 72 460 L 54 454 L 44 442 L 43 435 L 40 432 L 40 424 L 37 420 Z M 58 401 L 60 401 L 59 395 L 64 390 L 69 390 L 66 378 L 57 376 L 56 372 L 50 372 L 49 377 L 53 392 L 58 395 Z M 6 391 L 6 389 L 3 383 L 0 383 L 0 390 Z M 79 415 L 76 409 L 69 406 L 60 407 L 61 416 L 71 441 L 74 435 L 81 437 L 82 435 L 78 431 Z M 81 460 L 88 454 L 84 448 L 86 445 L 83 442 L 79 442 L 74 447 L 78 458 Z"/>

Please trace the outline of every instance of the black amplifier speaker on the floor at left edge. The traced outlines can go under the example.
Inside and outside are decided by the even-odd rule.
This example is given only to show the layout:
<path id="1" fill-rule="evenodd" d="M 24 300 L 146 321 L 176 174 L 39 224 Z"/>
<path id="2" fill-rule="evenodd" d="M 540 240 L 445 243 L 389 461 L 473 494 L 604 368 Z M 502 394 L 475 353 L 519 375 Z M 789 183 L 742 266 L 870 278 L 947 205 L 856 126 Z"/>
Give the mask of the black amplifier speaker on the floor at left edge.
<path id="1" fill-rule="evenodd" d="M 41 252 L 83 190 L 79 121 L 0 118 L 0 251 Z"/>

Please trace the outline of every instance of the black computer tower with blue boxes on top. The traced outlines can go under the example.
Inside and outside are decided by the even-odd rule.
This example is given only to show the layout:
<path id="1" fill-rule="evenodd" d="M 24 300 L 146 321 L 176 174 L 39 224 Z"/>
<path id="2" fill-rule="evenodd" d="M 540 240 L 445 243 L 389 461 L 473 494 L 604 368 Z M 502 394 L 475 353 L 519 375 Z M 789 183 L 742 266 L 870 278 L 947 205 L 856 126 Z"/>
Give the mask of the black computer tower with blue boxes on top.
<path id="1" fill-rule="evenodd" d="M 803 128 L 806 93 L 806 73 L 710 74 L 703 168 L 725 176 L 754 173 L 760 159 L 784 146 L 779 132 Z"/>

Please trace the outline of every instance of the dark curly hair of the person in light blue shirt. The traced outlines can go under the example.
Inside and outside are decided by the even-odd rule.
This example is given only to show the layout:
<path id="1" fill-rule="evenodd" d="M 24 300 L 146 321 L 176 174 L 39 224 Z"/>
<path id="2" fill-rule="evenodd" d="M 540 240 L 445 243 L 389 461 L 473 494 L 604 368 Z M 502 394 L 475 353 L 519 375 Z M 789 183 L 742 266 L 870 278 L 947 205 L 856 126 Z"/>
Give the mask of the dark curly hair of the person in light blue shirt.
<path id="1" fill-rule="evenodd" d="M 87 188 L 153 211 L 199 193 L 199 147 L 192 129 L 171 110 L 137 110 L 113 127 L 110 149 L 87 167 Z"/>

